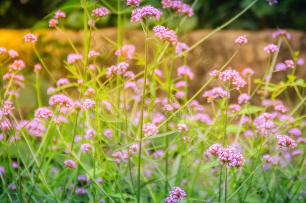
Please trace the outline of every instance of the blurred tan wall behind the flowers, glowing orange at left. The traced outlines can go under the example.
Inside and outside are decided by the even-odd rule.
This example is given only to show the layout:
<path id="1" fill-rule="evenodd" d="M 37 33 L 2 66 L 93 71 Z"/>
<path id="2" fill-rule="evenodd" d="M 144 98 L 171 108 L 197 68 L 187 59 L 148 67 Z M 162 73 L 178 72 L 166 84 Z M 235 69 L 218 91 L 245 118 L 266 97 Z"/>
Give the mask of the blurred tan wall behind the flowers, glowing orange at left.
<path id="1" fill-rule="evenodd" d="M 263 47 L 269 43 L 276 43 L 276 39 L 271 37 L 271 33 L 275 30 L 263 30 L 263 31 L 242 31 L 242 30 L 226 30 L 220 31 L 208 38 L 199 47 L 194 49 L 188 56 L 188 65 L 193 69 L 195 73 L 195 79 L 190 83 L 190 94 L 195 93 L 207 79 L 207 73 L 213 69 L 218 69 L 233 55 L 237 49 L 237 45 L 234 40 L 237 36 L 246 35 L 248 38 L 248 44 L 241 46 L 239 53 L 230 63 L 230 66 L 238 71 L 243 70 L 245 67 L 251 67 L 255 70 L 254 78 L 260 77 L 264 74 L 267 66 L 269 55 L 263 52 Z M 32 45 L 23 43 L 23 36 L 29 33 L 29 30 L 0 30 L 0 47 L 6 47 L 8 49 L 15 49 L 20 53 L 21 59 L 24 59 L 28 65 L 28 69 L 32 70 L 33 64 L 37 62 L 37 58 L 34 56 Z M 197 30 L 188 33 L 185 37 L 181 37 L 181 40 L 187 40 L 189 46 L 193 45 L 201 38 L 209 34 L 210 30 Z M 300 51 L 300 58 L 306 59 L 306 33 L 288 30 L 292 38 L 290 43 L 295 51 Z M 37 47 L 42 53 L 48 66 L 52 70 L 55 78 L 62 77 L 65 73 L 63 67 L 63 60 L 66 60 L 66 56 L 72 53 L 73 50 L 69 45 L 63 33 L 57 30 L 38 30 L 35 34 L 40 36 Z M 83 51 L 83 32 L 82 31 L 67 31 L 67 36 L 71 39 L 75 47 L 82 53 Z M 92 40 L 90 49 L 99 51 L 104 60 L 101 61 L 106 66 L 115 63 L 113 53 L 115 47 L 105 40 L 116 41 L 117 32 L 115 28 L 101 29 L 94 31 L 92 34 Z M 154 48 L 156 41 L 150 40 L 151 48 Z M 144 54 L 144 34 L 141 30 L 129 30 L 126 32 L 124 44 L 134 44 L 136 50 L 140 55 Z M 150 50 L 150 59 L 153 56 L 153 49 Z M 277 62 L 290 59 L 289 50 L 283 43 L 281 45 L 281 52 Z M 132 64 L 132 62 L 131 62 Z M 182 59 L 178 59 L 175 63 L 175 67 L 183 64 Z M 141 66 L 134 66 L 135 71 L 142 70 Z M 306 78 L 305 66 L 299 67 L 297 74 L 300 77 Z M 274 74 L 274 80 L 282 80 L 285 77 L 285 73 Z M 211 84 L 215 86 L 216 84 Z"/>

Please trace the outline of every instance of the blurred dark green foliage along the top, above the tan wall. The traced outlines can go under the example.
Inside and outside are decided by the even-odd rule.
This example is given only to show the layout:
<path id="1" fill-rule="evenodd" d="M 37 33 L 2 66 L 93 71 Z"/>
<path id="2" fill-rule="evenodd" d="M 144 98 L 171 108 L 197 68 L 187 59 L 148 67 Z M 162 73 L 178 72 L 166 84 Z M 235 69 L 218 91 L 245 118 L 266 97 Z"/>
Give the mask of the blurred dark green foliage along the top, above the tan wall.
<path id="1" fill-rule="evenodd" d="M 82 1 L 82 0 L 81 0 Z M 241 11 L 252 0 L 199 0 L 195 5 L 196 15 L 187 19 L 184 29 L 216 28 L 236 13 Z M 88 10 L 105 6 L 104 2 L 117 9 L 117 0 L 87 0 Z M 121 1 L 125 4 L 125 1 Z M 184 0 L 193 4 L 194 0 Z M 269 6 L 265 0 L 259 0 L 249 12 L 228 26 L 228 29 L 258 30 L 264 28 L 291 28 L 306 30 L 306 1 L 279 0 L 277 5 Z M 150 4 L 161 8 L 160 0 L 144 0 L 141 4 Z M 1 0 L 0 27 L 9 29 L 19 28 L 48 28 L 48 20 L 52 14 L 61 9 L 68 14 L 65 26 L 71 29 L 83 27 L 83 10 L 79 0 Z M 139 24 L 129 22 L 132 8 L 125 9 L 127 27 L 134 28 Z M 173 22 L 169 11 L 164 11 L 165 21 Z M 163 23 L 163 22 L 162 22 Z M 97 23 L 97 27 L 116 26 L 116 15 L 110 15 Z"/>

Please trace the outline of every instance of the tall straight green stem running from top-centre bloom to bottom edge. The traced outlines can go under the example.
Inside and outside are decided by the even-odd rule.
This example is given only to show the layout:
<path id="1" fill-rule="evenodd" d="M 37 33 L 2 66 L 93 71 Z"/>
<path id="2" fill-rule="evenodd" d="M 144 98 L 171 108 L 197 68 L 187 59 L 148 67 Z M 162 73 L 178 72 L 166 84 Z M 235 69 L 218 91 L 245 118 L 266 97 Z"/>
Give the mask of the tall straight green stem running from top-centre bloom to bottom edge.
<path id="1" fill-rule="evenodd" d="M 142 86 L 142 99 L 141 99 L 141 113 L 140 113 L 140 137 L 139 137 L 139 150 L 137 160 L 137 202 L 140 202 L 140 163 L 141 163 L 141 142 L 142 142 L 142 125 L 143 125 L 143 108 L 145 100 L 146 76 L 147 76 L 147 61 L 148 61 L 148 19 L 145 20 L 145 63 L 144 63 L 144 78 Z"/>

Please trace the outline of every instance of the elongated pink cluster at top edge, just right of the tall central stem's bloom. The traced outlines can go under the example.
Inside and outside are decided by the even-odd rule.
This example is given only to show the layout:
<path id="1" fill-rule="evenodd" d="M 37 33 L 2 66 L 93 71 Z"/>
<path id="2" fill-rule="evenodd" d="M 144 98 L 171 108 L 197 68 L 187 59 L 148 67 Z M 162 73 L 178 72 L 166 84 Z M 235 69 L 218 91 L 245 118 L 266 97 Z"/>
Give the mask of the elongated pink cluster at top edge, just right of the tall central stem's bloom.
<path id="1" fill-rule="evenodd" d="M 177 0 L 162 0 L 162 5 L 164 9 L 173 9 L 178 15 L 186 15 L 192 17 L 194 15 L 193 9 L 188 5 L 184 4 L 182 1 Z"/>

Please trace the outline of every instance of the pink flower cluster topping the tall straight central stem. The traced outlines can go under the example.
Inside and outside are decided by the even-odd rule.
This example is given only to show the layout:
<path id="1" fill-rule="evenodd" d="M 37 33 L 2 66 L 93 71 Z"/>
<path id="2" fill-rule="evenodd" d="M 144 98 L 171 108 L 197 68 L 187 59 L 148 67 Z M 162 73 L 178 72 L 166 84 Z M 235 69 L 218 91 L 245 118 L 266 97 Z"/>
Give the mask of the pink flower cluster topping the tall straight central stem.
<path id="1" fill-rule="evenodd" d="M 131 22 L 139 22 L 143 18 L 151 19 L 155 17 L 159 20 L 162 12 L 152 6 L 144 6 L 141 9 L 133 10 L 131 16 Z"/>

